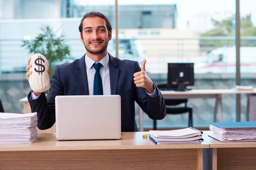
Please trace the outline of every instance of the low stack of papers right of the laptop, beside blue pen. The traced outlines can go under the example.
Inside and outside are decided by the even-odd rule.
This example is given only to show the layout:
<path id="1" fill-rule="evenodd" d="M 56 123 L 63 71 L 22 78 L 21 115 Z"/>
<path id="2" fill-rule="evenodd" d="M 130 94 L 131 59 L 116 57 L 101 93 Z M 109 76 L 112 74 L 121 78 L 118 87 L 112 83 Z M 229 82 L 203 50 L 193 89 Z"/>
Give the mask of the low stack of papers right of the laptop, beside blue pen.
<path id="1" fill-rule="evenodd" d="M 199 143 L 202 142 L 202 131 L 192 127 L 178 130 L 149 130 L 149 138 L 155 144 Z"/>

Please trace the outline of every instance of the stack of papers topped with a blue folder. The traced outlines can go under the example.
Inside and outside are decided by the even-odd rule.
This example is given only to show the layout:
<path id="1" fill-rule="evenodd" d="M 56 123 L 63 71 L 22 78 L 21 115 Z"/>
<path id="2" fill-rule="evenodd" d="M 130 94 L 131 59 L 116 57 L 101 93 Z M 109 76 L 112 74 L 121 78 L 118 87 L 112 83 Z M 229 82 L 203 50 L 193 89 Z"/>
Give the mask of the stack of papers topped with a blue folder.
<path id="1" fill-rule="evenodd" d="M 256 141 L 256 122 L 209 123 L 209 137 L 220 142 Z"/>

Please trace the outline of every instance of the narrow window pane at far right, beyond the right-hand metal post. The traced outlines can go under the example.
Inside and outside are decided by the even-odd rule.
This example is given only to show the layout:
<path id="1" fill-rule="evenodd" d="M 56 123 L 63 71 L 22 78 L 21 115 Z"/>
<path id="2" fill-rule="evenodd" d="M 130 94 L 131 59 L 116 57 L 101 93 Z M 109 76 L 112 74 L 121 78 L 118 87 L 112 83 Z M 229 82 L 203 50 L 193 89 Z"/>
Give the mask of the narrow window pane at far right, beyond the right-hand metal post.
<path id="1" fill-rule="evenodd" d="M 253 0 L 240 0 L 240 72 L 241 85 L 256 88 L 256 11 Z M 241 121 L 246 121 L 247 95 L 241 95 Z M 251 105 L 253 106 L 253 105 Z M 249 119 L 250 120 L 250 119 Z"/>

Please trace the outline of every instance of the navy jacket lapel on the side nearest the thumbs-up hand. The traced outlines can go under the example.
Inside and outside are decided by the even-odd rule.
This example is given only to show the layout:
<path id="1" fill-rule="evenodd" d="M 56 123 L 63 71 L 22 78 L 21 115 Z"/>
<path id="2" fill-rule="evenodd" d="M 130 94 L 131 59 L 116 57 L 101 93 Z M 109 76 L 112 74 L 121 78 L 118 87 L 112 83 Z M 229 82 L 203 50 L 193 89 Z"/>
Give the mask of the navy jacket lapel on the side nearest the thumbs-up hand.
<path id="1" fill-rule="evenodd" d="M 111 88 L 111 95 L 116 94 L 116 88 L 117 88 L 117 82 L 119 77 L 119 69 L 118 63 L 116 62 L 116 59 L 111 56 L 109 53 L 109 74 L 110 74 L 110 88 Z"/>

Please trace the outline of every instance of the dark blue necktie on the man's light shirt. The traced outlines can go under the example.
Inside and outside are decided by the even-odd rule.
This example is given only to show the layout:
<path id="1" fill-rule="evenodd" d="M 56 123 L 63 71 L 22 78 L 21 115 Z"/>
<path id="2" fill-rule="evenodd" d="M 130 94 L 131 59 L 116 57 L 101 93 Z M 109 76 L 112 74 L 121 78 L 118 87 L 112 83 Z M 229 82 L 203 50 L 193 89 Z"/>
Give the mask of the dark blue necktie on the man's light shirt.
<path id="1" fill-rule="evenodd" d="M 94 63 L 95 68 L 94 82 L 93 82 L 93 95 L 103 95 L 102 79 L 99 73 L 99 69 L 102 66 L 101 63 Z"/>

